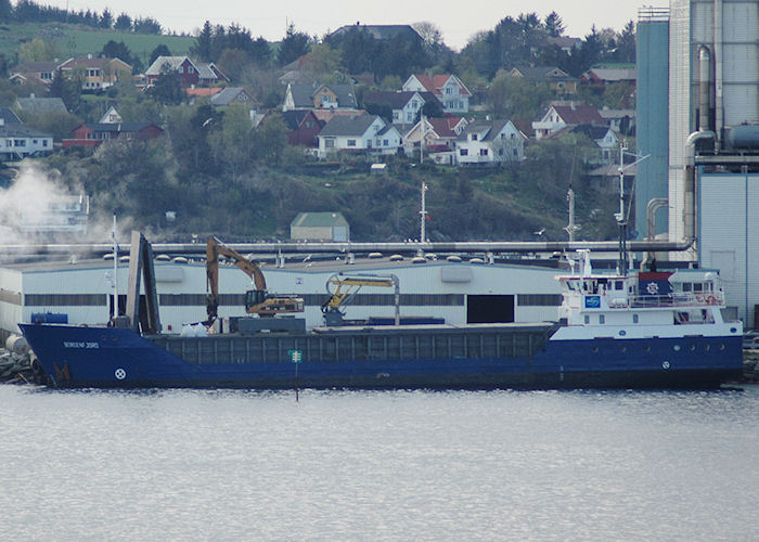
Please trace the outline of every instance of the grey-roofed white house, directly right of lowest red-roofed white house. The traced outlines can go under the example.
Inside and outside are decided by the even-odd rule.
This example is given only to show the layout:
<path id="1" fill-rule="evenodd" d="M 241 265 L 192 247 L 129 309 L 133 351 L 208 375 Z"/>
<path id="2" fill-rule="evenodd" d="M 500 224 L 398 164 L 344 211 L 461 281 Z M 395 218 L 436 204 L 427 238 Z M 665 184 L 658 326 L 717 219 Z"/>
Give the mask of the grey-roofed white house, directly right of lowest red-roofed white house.
<path id="1" fill-rule="evenodd" d="M 475 120 L 456 138 L 456 164 L 497 165 L 522 162 L 527 138 L 511 120 Z"/>

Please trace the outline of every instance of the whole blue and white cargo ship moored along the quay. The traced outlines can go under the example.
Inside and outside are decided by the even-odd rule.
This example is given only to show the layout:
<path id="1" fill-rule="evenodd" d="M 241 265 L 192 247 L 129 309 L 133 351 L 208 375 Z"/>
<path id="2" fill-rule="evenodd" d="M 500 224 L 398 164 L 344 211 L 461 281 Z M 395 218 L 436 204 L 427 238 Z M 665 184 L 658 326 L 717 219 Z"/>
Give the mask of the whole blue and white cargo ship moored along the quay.
<path id="1" fill-rule="evenodd" d="M 119 325 L 20 327 L 49 384 L 62 388 L 719 387 L 741 374 L 743 325 L 722 317 L 717 272 L 697 282 L 676 275 L 595 273 L 586 250 L 577 272 L 556 278 L 555 322 L 396 321 L 269 333 L 241 326 L 202 336 Z"/>

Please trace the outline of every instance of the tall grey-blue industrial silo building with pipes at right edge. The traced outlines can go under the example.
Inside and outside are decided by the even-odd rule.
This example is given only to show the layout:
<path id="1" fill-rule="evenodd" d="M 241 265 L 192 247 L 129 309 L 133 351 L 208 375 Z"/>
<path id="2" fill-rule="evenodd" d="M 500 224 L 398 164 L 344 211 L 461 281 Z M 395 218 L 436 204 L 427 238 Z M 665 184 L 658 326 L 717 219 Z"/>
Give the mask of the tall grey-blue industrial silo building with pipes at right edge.
<path id="1" fill-rule="evenodd" d="M 642 9 L 638 55 L 638 153 L 649 157 L 638 166 L 636 228 L 694 241 L 670 258 L 720 269 L 729 305 L 756 327 L 759 2 Z"/>

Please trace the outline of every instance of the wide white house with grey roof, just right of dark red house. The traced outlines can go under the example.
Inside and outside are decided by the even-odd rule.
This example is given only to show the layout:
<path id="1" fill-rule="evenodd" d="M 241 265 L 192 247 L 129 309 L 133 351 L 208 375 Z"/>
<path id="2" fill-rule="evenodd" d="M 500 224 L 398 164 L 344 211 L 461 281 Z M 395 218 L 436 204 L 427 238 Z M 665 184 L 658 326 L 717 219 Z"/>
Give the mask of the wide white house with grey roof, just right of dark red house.
<path id="1" fill-rule="evenodd" d="M 336 151 L 395 154 L 402 143 L 398 129 L 377 115 L 334 117 L 318 138 L 320 158 Z"/>

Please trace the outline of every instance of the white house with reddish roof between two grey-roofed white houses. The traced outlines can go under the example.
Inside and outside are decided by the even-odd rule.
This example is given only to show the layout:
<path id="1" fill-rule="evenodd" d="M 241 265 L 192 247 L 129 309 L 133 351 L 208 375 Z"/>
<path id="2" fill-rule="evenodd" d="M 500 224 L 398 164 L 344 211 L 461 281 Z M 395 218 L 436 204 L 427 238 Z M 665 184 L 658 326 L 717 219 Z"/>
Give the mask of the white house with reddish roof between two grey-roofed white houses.
<path id="1" fill-rule="evenodd" d="M 456 139 L 466 125 L 461 117 L 424 117 L 403 137 L 403 150 L 407 155 L 426 154 L 436 164 L 452 166 L 455 164 Z M 424 145 L 420 149 L 423 138 Z"/>

